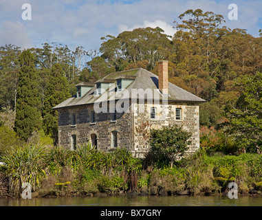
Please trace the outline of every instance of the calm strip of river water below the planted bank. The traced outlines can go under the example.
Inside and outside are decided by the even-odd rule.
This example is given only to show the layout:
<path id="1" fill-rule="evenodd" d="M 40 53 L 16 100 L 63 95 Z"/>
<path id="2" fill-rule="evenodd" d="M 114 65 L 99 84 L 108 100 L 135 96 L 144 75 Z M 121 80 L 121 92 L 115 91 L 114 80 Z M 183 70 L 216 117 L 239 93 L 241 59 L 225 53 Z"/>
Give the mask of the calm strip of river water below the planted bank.
<path id="1" fill-rule="evenodd" d="M 212 196 L 59 197 L 0 199 L 0 206 L 262 206 L 261 197 Z"/>

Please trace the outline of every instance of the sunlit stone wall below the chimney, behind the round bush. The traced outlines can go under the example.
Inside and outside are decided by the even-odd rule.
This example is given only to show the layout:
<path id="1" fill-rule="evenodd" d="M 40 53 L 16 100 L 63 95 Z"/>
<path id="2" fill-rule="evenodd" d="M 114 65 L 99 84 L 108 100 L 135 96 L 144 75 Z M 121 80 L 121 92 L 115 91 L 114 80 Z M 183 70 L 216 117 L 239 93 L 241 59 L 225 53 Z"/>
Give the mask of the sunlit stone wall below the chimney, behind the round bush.
<path id="1" fill-rule="evenodd" d="M 157 108 L 156 120 L 151 120 L 151 107 Z M 175 119 L 175 109 L 182 109 L 182 120 Z M 199 149 L 199 106 L 196 103 L 176 103 L 176 104 L 133 104 L 134 112 L 134 151 L 136 157 L 143 157 L 149 148 L 146 138 L 138 132 L 137 128 L 143 127 L 146 121 L 150 124 L 146 129 L 162 129 L 162 126 L 182 124 L 186 131 L 193 133 L 188 153 L 193 153 Z"/>

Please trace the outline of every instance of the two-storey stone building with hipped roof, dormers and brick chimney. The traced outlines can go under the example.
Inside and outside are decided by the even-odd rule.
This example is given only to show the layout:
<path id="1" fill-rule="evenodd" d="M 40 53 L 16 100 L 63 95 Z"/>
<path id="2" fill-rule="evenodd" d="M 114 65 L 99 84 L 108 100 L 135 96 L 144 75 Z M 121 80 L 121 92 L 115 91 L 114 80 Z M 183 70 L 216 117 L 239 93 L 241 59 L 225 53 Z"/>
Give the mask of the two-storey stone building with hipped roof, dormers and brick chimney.
<path id="1" fill-rule="evenodd" d="M 76 96 L 58 110 L 58 142 L 74 150 L 91 141 L 102 151 L 124 147 L 143 157 L 150 129 L 182 124 L 190 131 L 188 152 L 199 148 L 199 103 L 205 100 L 168 83 L 168 62 L 159 62 L 159 76 L 146 69 L 111 73 L 96 83 L 76 85 Z"/>

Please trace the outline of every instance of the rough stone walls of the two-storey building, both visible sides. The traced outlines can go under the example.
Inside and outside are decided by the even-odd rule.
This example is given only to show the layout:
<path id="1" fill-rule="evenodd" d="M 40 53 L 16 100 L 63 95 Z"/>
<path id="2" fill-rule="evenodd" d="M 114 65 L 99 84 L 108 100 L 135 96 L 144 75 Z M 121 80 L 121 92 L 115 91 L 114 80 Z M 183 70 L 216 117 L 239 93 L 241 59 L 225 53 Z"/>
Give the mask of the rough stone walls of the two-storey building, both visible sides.
<path id="1" fill-rule="evenodd" d="M 151 120 L 151 107 L 157 108 L 156 120 Z M 175 109 L 182 109 L 182 120 L 175 119 Z M 72 135 L 77 144 L 87 143 L 91 134 L 96 134 L 98 149 L 110 151 L 113 148 L 112 131 L 118 131 L 118 146 L 128 148 L 135 157 L 144 157 L 149 144 L 141 131 L 145 122 L 151 124 L 145 129 L 161 129 L 162 126 L 182 124 L 186 131 L 193 133 L 188 153 L 199 148 L 199 106 L 196 103 L 130 104 L 129 113 L 117 113 L 117 120 L 111 120 L 111 113 L 97 113 L 96 123 L 91 123 L 92 105 L 61 109 L 58 113 L 59 144 L 72 148 Z M 72 114 L 76 124 L 72 125 Z"/>

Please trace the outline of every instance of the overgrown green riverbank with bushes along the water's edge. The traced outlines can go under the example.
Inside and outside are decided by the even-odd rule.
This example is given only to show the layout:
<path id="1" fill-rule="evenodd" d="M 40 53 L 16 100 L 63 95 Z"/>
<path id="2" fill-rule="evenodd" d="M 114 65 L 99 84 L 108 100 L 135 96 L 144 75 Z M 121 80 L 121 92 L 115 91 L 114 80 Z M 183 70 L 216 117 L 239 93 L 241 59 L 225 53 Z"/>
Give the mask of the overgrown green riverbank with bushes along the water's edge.
<path id="1" fill-rule="evenodd" d="M 134 158 L 121 148 L 104 153 L 88 146 L 76 151 L 26 146 L 9 152 L 5 164 L 0 182 L 16 197 L 23 191 L 21 179 L 31 184 L 34 197 L 223 195 L 230 182 L 237 184 L 239 195 L 262 192 L 259 154 L 198 151 L 171 168 Z"/>

